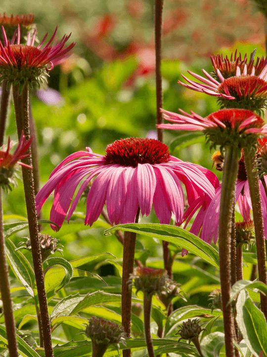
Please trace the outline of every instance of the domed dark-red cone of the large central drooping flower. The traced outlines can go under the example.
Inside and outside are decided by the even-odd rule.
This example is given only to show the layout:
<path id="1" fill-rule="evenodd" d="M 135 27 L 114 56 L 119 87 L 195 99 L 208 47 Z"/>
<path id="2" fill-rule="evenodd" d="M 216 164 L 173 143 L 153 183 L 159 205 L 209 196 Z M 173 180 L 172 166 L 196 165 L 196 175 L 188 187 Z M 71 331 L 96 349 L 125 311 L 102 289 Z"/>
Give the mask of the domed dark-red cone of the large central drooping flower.
<path id="1" fill-rule="evenodd" d="M 155 139 L 116 140 L 106 148 L 106 164 L 136 167 L 138 164 L 162 164 L 170 161 L 168 146 Z"/>

